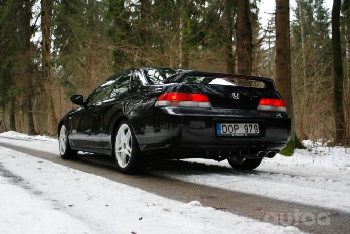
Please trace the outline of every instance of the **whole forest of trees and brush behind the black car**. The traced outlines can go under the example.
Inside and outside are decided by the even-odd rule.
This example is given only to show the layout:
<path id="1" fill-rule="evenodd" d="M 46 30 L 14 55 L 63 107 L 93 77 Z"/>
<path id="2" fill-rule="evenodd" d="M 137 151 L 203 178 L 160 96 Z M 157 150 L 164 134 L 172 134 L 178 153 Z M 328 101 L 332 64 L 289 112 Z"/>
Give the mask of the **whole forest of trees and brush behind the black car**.
<path id="1" fill-rule="evenodd" d="M 350 0 L 268 2 L 0 0 L 0 132 L 56 135 L 72 94 L 157 66 L 273 78 L 299 139 L 348 145 Z"/>

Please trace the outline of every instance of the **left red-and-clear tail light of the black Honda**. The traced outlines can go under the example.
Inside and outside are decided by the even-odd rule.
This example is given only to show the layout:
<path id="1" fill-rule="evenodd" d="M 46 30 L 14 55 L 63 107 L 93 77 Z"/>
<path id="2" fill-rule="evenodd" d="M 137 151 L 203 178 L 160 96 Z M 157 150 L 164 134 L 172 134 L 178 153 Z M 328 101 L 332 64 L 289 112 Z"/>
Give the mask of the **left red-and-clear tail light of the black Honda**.
<path id="1" fill-rule="evenodd" d="M 157 98 L 155 106 L 211 107 L 211 103 L 204 94 L 165 93 Z"/>

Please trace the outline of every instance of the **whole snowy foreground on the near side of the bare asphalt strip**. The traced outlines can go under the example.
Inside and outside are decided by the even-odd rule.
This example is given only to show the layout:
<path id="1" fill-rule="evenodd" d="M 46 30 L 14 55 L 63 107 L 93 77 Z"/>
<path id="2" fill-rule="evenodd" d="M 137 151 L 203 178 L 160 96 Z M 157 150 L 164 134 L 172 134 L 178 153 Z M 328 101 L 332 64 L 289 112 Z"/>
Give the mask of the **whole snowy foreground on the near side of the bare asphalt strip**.
<path id="1" fill-rule="evenodd" d="M 4 233 L 299 233 L 0 147 Z"/>

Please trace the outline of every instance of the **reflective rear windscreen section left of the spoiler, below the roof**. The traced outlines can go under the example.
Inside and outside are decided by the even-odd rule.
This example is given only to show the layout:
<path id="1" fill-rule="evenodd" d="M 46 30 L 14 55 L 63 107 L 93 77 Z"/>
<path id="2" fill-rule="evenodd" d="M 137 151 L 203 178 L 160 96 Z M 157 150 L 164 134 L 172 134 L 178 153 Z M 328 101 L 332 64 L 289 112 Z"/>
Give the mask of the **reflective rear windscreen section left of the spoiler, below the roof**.
<path id="1" fill-rule="evenodd" d="M 148 84 L 163 84 L 163 81 L 172 75 L 183 72 L 179 68 L 144 68 L 143 69 Z"/>

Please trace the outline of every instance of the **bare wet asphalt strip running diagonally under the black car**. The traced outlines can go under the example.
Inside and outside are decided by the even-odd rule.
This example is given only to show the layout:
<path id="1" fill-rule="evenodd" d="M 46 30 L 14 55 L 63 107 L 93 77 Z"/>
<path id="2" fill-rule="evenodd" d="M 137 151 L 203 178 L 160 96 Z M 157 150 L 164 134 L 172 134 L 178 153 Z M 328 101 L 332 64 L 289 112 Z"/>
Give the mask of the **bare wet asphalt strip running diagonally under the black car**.
<path id="1" fill-rule="evenodd" d="M 212 188 L 183 181 L 177 181 L 155 175 L 152 171 L 186 169 L 198 170 L 200 173 L 218 172 L 219 168 L 204 164 L 188 163 L 185 161 L 158 161 L 142 175 L 124 175 L 118 172 L 114 159 L 102 155 L 79 154 L 74 160 L 63 160 L 57 154 L 27 149 L 22 146 L 1 143 L 0 146 L 40 157 L 54 163 L 61 164 L 87 173 L 103 176 L 119 183 L 140 188 L 144 191 L 168 197 L 183 202 L 198 200 L 203 206 L 235 213 L 265 222 L 279 225 L 293 225 L 299 229 L 312 233 L 350 233 L 350 213 L 329 210 L 320 207 L 307 206 L 297 203 L 269 199 L 263 196 L 245 194 L 220 188 Z M 251 173 L 251 172 L 249 172 Z M 256 172 L 259 173 L 259 172 Z M 310 194 L 312 196 L 312 194 Z M 299 214 L 299 218 L 287 215 Z M 266 216 L 265 213 L 273 214 Z M 319 222 L 310 220 L 306 214 L 319 215 Z M 278 215 L 281 214 L 281 215 Z M 328 222 L 329 221 L 329 222 Z M 325 225 L 326 224 L 326 225 Z"/>

